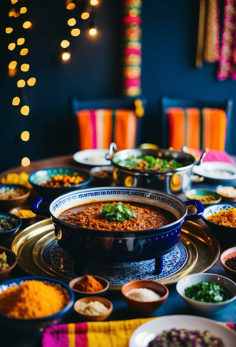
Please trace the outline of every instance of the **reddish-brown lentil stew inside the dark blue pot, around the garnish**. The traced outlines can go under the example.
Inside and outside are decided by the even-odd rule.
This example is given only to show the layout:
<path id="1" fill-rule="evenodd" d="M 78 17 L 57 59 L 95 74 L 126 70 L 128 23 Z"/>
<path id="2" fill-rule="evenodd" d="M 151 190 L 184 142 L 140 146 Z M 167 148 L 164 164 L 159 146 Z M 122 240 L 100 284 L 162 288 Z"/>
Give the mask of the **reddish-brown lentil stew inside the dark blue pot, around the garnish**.
<path id="1" fill-rule="evenodd" d="M 130 208 L 136 215 L 135 218 L 126 219 L 122 222 L 117 220 L 109 221 L 101 214 L 101 209 L 111 202 L 96 202 L 86 205 L 79 205 L 62 212 L 58 219 L 72 225 L 107 231 L 134 231 L 148 230 L 170 224 L 177 220 L 173 213 L 156 206 L 125 202 L 125 206 Z M 113 202 L 117 205 L 117 202 Z"/>

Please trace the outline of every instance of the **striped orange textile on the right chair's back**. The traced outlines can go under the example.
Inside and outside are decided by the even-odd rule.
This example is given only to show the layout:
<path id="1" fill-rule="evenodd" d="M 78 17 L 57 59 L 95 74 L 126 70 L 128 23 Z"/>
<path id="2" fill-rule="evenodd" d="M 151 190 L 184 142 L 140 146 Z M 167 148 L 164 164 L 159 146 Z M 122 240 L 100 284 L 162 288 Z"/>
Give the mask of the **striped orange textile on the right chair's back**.
<path id="1" fill-rule="evenodd" d="M 224 110 L 210 108 L 169 108 L 166 110 L 169 125 L 168 146 L 181 150 L 192 149 L 223 151 L 227 117 Z"/>

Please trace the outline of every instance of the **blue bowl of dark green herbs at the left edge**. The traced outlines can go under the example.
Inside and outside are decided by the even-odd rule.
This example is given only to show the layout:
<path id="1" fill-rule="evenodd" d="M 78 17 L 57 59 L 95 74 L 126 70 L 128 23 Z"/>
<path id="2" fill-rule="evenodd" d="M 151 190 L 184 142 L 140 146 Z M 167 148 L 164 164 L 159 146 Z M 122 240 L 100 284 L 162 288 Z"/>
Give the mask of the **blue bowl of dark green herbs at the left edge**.
<path id="1" fill-rule="evenodd" d="M 8 239 L 21 226 L 21 219 L 15 214 L 0 212 L 0 242 Z"/>

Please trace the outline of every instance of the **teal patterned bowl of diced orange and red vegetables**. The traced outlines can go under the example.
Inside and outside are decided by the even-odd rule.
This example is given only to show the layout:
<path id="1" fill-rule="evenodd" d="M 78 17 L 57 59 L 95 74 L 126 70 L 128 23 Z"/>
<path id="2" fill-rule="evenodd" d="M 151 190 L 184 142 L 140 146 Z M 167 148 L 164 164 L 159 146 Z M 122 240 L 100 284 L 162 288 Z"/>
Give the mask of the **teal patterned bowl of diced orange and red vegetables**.
<path id="1" fill-rule="evenodd" d="M 42 196 L 54 198 L 74 189 L 85 188 L 91 181 L 89 172 L 78 168 L 48 168 L 33 172 L 29 183 Z"/>

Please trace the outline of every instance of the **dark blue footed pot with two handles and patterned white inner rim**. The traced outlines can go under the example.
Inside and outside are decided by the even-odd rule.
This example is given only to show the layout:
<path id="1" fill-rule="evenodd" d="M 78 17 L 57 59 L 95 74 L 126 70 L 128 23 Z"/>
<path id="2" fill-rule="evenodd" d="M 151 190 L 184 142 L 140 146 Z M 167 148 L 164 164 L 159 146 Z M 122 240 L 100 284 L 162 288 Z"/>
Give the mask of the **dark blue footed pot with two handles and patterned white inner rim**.
<path id="1" fill-rule="evenodd" d="M 157 206 L 172 212 L 177 220 L 149 230 L 102 231 L 73 226 L 57 218 L 73 206 L 96 201 L 136 202 Z M 42 202 L 48 203 L 47 211 L 40 209 Z M 189 205 L 196 206 L 196 214 L 187 214 Z M 53 200 L 37 198 L 32 205 L 32 211 L 51 216 L 57 243 L 64 251 L 74 255 L 77 273 L 82 271 L 84 260 L 122 263 L 149 259 L 156 259 L 155 272 L 160 273 L 162 256 L 178 244 L 184 220 L 200 218 L 204 207 L 199 200 L 183 202 L 175 196 L 151 189 L 102 187 L 68 192 Z"/>

